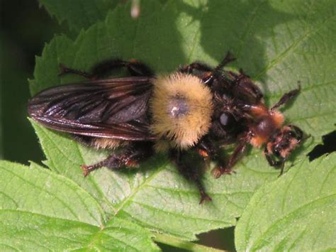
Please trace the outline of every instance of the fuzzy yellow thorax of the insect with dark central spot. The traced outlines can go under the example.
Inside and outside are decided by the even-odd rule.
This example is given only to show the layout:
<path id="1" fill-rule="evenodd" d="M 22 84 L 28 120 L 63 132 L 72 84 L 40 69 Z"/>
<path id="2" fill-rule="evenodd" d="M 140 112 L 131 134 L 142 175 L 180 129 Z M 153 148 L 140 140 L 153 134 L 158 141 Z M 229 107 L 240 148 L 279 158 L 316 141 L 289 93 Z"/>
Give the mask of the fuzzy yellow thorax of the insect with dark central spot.
<path id="1" fill-rule="evenodd" d="M 198 77 L 182 73 L 159 76 L 153 84 L 152 133 L 177 148 L 194 146 L 211 126 L 211 90 Z"/>

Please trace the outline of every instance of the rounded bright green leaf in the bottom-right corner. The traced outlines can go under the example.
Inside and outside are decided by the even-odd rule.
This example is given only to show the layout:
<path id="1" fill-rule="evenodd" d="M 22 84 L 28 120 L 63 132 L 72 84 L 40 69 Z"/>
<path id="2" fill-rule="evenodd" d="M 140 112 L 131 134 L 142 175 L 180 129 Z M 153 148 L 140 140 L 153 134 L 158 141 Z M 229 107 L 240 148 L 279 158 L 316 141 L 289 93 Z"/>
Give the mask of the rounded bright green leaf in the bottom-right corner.
<path id="1" fill-rule="evenodd" d="M 238 251 L 336 249 L 336 155 L 297 165 L 260 188 L 236 227 Z"/>

